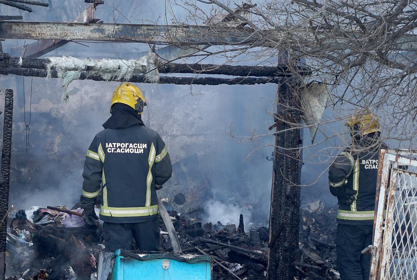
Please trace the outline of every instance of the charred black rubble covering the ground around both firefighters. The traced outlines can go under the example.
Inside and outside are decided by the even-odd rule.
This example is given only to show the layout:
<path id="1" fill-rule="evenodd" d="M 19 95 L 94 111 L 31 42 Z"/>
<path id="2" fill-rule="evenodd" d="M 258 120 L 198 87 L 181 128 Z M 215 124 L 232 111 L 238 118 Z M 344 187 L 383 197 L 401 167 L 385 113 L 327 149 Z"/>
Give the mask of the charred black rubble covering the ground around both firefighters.
<path id="1" fill-rule="evenodd" d="M 177 199 L 181 198 L 178 195 Z M 240 215 L 239 225 L 202 224 L 203 209 L 177 213 L 165 200 L 181 250 L 213 259 L 213 279 L 265 280 L 269 229 L 254 226 Z M 62 209 L 67 209 L 65 206 Z M 79 205 L 71 208 L 80 213 Z M 98 212 L 98 208 L 96 209 Z M 300 250 L 294 268 L 298 279 L 339 279 L 333 243 L 335 210 L 320 201 L 301 207 Z M 161 249 L 173 252 L 165 225 Z M 34 206 L 9 213 L 7 234 L 8 280 L 96 279 L 98 253 L 104 248 L 102 225 L 87 227 L 77 215 Z"/>

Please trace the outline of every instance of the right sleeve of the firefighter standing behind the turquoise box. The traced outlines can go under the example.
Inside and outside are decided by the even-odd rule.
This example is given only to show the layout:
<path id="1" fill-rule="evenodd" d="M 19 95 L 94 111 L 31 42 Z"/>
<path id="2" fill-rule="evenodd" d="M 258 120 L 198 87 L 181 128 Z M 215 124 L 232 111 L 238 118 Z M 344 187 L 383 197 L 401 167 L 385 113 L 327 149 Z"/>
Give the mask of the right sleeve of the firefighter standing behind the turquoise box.
<path id="1" fill-rule="evenodd" d="M 166 145 L 161 136 L 156 139 L 156 158 L 155 158 L 155 184 L 156 189 L 162 188 L 162 185 L 171 178 L 172 165 L 171 158 L 169 158 Z"/>

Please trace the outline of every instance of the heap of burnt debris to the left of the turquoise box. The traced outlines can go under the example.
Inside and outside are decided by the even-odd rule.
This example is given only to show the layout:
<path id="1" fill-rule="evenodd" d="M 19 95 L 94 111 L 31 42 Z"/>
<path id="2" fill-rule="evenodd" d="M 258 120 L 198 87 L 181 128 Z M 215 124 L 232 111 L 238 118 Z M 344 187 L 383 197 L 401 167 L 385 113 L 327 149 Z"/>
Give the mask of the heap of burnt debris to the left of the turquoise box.
<path id="1" fill-rule="evenodd" d="M 81 213 L 82 209 L 73 211 Z M 77 215 L 38 206 L 15 211 L 8 220 L 8 279 L 89 279 L 97 271 L 101 226 L 88 228 Z"/>

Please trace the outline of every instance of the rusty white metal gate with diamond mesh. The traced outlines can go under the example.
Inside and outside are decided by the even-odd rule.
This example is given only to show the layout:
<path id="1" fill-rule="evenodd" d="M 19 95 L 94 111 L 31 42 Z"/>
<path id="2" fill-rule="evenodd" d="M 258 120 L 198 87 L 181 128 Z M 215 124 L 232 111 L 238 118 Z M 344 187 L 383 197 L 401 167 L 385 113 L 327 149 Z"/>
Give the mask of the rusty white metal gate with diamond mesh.
<path id="1" fill-rule="evenodd" d="M 417 280 L 416 156 L 395 150 L 379 154 L 370 280 Z"/>

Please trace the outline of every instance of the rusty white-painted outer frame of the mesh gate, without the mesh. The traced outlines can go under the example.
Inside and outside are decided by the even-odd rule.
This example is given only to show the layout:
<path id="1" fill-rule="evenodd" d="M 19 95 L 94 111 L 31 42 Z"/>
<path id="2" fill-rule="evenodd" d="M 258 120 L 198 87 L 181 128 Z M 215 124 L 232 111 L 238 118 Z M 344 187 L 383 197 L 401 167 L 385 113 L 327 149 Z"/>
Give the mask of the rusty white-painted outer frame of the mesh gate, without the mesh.
<path id="1" fill-rule="evenodd" d="M 393 184 L 396 174 L 402 172 L 401 170 L 394 170 L 394 168 L 397 168 L 399 164 L 417 166 L 417 160 L 406 158 L 402 155 L 417 155 L 417 153 L 410 150 L 385 149 L 379 153 L 373 235 L 373 248 L 375 250 L 371 257 L 369 280 L 386 279 L 384 268 L 386 267 L 387 254 L 391 246 L 390 238 L 393 227 L 393 204 L 395 200 L 395 189 L 390 188 L 388 195 L 387 190 L 388 186 Z M 392 176 L 390 182 L 388 182 L 390 171 L 392 171 Z M 386 210 L 386 219 L 384 220 Z"/>

